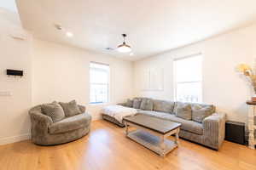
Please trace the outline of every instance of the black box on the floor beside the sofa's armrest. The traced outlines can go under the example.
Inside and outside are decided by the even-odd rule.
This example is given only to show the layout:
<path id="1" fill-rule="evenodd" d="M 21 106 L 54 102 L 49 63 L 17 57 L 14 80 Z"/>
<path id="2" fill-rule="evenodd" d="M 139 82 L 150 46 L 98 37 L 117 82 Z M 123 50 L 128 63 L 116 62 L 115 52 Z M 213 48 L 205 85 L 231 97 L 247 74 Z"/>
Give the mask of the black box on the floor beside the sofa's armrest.
<path id="1" fill-rule="evenodd" d="M 225 124 L 225 140 L 245 144 L 245 123 L 227 121 Z"/>

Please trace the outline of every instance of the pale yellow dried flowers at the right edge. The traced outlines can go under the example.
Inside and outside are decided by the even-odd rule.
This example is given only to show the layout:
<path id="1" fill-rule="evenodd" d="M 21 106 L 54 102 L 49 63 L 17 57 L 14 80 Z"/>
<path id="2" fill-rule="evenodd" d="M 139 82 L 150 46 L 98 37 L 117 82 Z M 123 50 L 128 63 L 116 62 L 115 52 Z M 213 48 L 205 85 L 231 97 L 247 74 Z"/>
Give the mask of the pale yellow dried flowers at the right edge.
<path id="1" fill-rule="evenodd" d="M 250 65 L 240 64 L 237 65 L 236 70 L 241 72 L 253 86 L 254 94 L 252 96 L 252 101 L 256 102 L 256 71 L 250 67 Z"/>

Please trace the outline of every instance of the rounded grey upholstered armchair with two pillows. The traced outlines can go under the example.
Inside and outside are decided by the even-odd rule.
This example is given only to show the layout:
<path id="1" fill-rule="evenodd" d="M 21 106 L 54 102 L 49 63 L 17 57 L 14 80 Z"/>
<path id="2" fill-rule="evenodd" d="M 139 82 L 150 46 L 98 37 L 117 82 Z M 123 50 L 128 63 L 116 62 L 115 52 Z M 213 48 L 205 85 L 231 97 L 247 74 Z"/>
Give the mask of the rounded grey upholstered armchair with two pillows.
<path id="1" fill-rule="evenodd" d="M 90 132 L 91 116 L 83 105 L 76 105 L 79 114 L 66 116 L 67 108 L 57 102 L 37 105 L 29 111 L 32 122 L 32 142 L 41 145 L 63 144 L 79 139 Z M 67 105 L 68 111 L 73 105 Z M 63 113 L 61 113 L 63 112 Z"/>

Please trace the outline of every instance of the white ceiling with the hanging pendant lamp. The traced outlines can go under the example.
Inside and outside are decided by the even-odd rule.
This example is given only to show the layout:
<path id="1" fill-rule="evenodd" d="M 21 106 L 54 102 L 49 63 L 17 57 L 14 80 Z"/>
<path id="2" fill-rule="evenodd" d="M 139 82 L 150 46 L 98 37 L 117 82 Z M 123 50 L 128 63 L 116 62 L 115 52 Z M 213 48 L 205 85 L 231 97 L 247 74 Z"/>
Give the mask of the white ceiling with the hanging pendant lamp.
<path id="1" fill-rule="evenodd" d="M 17 0 L 35 37 L 137 60 L 201 41 L 256 20 L 255 0 Z M 72 31 L 73 38 L 54 24 Z M 107 51 L 128 35 L 134 56 Z"/>

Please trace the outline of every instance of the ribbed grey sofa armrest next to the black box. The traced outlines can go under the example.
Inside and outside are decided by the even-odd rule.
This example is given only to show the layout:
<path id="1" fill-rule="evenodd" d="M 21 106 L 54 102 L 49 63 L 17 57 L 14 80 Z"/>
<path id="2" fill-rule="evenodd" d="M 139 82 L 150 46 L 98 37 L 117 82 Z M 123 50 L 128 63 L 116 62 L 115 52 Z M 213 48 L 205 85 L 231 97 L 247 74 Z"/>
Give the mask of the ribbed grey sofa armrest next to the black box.
<path id="1" fill-rule="evenodd" d="M 202 122 L 206 142 L 211 143 L 217 150 L 224 141 L 225 122 L 225 113 L 214 113 L 207 116 Z"/>

